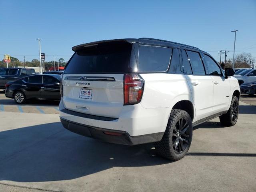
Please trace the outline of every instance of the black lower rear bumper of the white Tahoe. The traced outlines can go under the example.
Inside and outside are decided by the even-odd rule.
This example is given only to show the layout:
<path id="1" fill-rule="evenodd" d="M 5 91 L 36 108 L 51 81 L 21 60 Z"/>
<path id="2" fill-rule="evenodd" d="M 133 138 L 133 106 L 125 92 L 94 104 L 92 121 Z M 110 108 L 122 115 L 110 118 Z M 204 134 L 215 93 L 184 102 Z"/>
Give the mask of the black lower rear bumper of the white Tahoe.
<path id="1" fill-rule="evenodd" d="M 116 143 L 116 144 L 123 144 L 123 145 L 138 145 L 150 142 L 160 141 L 164 132 L 161 133 L 154 133 L 154 134 L 147 134 L 141 136 L 130 136 L 125 131 L 118 131 L 118 130 L 109 130 L 104 128 L 86 126 L 82 124 L 78 124 L 75 122 L 71 122 L 60 118 L 62 125 L 64 128 L 83 136 L 91 137 L 94 139 L 99 139 L 109 143 Z M 107 132 L 107 134 L 105 133 Z M 118 135 L 110 135 L 118 134 Z"/>

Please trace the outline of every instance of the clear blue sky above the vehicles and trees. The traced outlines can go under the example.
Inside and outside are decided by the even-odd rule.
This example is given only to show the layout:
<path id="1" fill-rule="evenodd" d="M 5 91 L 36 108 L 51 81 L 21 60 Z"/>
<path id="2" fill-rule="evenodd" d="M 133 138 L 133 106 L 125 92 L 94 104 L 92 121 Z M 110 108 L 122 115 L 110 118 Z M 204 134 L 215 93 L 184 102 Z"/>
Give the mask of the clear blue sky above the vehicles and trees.
<path id="1" fill-rule="evenodd" d="M 0 59 L 68 60 L 72 46 L 96 40 L 150 37 L 210 51 L 250 51 L 256 60 L 256 0 L 0 0 Z M 240 53 L 240 52 L 236 52 Z M 228 58 L 232 58 L 232 52 Z"/>

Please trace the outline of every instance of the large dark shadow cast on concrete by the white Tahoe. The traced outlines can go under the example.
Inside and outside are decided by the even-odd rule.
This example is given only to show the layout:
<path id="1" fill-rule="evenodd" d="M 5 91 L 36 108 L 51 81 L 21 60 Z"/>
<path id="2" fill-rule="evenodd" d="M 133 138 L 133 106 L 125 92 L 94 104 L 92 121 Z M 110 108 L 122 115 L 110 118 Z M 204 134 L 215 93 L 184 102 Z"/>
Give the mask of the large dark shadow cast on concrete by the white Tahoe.
<path id="1" fill-rule="evenodd" d="M 123 146 L 65 130 L 60 122 L 0 132 L 0 180 L 70 180 L 112 167 L 171 163 L 152 144 Z"/>

